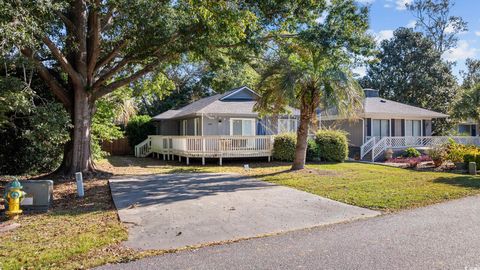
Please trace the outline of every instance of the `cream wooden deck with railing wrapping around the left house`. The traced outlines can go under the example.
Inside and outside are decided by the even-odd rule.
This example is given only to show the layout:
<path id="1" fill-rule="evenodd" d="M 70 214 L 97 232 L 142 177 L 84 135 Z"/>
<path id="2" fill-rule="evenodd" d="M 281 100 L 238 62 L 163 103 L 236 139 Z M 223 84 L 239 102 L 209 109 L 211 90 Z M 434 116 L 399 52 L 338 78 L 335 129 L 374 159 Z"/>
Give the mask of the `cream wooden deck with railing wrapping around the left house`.
<path id="1" fill-rule="evenodd" d="M 152 135 L 135 146 L 135 156 L 163 157 L 181 161 L 190 158 L 218 158 L 222 165 L 223 158 L 267 157 L 270 161 L 273 150 L 273 136 L 160 136 Z"/>

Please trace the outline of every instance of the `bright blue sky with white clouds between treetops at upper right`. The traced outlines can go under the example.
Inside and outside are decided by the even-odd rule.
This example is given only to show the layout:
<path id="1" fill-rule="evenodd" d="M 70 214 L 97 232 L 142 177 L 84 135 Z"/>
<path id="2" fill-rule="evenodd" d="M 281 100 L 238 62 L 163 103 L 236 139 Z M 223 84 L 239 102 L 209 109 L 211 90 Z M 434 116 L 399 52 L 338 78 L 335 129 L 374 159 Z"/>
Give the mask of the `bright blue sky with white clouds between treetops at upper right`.
<path id="1" fill-rule="evenodd" d="M 370 28 L 377 40 L 392 37 L 398 27 L 411 27 L 415 17 L 406 10 L 405 4 L 411 0 L 357 0 L 370 5 Z M 458 35 L 457 47 L 446 52 L 445 59 L 456 61 L 454 74 L 465 69 L 466 58 L 480 58 L 480 0 L 456 0 L 452 15 L 461 16 L 468 23 L 468 31 Z M 357 70 L 361 73 L 361 70 Z"/>

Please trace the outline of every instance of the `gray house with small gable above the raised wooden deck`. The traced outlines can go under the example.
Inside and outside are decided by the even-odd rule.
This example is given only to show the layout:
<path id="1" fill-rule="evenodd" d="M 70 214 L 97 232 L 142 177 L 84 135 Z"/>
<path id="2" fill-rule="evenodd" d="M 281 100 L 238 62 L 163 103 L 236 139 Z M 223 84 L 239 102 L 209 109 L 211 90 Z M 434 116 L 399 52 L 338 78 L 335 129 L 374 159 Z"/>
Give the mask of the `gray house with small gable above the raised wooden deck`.
<path id="1" fill-rule="evenodd" d="M 298 110 L 291 109 L 292 115 L 259 117 L 253 110 L 258 97 L 252 89 L 242 86 L 168 110 L 153 117 L 157 135 L 255 136 L 297 130 Z"/>

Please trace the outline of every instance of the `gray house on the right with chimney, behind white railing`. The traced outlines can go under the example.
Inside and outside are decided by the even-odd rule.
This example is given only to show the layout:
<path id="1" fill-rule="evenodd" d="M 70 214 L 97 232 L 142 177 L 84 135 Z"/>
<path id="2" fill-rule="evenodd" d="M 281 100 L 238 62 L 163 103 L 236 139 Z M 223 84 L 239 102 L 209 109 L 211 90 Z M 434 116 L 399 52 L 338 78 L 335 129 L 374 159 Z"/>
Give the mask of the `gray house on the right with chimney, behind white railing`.
<path id="1" fill-rule="evenodd" d="M 362 146 L 372 144 L 370 140 L 373 138 L 375 144 L 384 137 L 431 136 L 432 120 L 448 117 L 443 113 L 381 98 L 378 90 L 364 91 L 363 108 L 356 119 L 341 117 L 335 110 L 326 110 L 319 117 L 322 128 L 337 128 L 348 133 L 352 157 L 358 154 L 363 157 L 366 153 L 361 153 Z"/>

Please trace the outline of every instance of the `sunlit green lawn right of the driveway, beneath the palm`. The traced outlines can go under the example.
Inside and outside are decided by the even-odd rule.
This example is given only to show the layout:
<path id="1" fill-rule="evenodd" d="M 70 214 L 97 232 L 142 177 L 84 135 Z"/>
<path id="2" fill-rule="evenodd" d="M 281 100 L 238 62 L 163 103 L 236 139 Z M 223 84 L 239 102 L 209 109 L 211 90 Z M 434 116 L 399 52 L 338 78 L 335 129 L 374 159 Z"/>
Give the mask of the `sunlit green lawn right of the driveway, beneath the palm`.
<path id="1" fill-rule="evenodd" d="M 480 193 L 480 177 L 364 163 L 311 164 L 301 172 L 263 168 L 257 177 L 352 205 L 397 211 Z"/>

